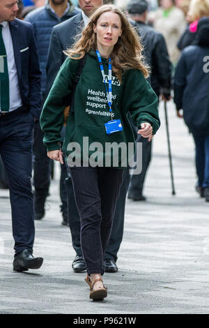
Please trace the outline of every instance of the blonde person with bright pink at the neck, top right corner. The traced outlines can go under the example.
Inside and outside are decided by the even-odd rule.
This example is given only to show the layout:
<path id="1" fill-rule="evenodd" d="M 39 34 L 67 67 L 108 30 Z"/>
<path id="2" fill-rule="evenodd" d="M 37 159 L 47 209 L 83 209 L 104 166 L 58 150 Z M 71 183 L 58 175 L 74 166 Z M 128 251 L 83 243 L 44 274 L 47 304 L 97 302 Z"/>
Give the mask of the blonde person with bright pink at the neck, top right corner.
<path id="1" fill-rule="evenodd" d="M 179 50 L 183 50 L 188 45 L 192 45 L 196 35 L 196 28 L 199 19 L 204 16 L 209 16 L 209 0 L 192 0 L 189 3 L 189 12 L 187 20 L 189 25 L 185 29 L 182 36 L 178 40 L 177 46 Z"/>

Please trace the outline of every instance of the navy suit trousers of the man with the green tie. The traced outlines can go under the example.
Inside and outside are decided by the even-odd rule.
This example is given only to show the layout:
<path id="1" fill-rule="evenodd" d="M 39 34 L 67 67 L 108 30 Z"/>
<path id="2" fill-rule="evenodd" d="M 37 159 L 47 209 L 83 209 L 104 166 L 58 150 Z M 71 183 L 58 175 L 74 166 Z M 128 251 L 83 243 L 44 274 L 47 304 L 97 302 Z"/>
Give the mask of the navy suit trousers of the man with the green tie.
<path id="1" fill-rule="evenodd" d="M 15 253 L 33 251 L 32 140 L 29 112 L 18 109 L 0 116 L 0 154 L 9 180 Z"/>

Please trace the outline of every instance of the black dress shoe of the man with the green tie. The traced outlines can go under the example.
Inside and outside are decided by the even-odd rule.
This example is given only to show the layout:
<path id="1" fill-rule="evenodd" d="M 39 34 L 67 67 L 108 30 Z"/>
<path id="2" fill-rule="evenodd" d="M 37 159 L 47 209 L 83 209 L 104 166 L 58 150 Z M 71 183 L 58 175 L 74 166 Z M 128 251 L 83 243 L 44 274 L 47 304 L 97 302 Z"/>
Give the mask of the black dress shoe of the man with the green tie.
<path id="1" fill-rule="evenodd" d="M 28 269 L 39 269 L 42 266 L 43 258 L 33 258 L 28 249 L 24 249 L 20 254 L 15 256 L 13 261 L 13 270 L 22 272 Z"/>

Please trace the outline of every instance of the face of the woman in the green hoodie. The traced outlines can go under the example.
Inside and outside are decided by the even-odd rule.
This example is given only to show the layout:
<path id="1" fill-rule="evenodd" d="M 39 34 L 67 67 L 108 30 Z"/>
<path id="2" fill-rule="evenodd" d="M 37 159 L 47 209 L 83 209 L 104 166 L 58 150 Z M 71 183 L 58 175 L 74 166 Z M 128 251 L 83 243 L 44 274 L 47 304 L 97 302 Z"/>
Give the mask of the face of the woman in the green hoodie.
<path id="1" fill-rule="evenodd" d="M 98 46 L 114 47 L 122 34 L 120 16 L 111 11 L 103 13 L 97 24 L 93 26 L 93 31 L 97 33 Z"/>

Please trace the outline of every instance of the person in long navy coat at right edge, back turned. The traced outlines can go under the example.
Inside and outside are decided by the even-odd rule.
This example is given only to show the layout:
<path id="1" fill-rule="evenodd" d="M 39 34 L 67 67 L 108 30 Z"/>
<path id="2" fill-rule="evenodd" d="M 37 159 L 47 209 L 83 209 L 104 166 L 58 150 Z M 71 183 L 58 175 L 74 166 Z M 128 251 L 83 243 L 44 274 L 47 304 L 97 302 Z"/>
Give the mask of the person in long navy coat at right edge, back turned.
<path id="1" fill-rule="evenodd" d="M 195 45 L 186 47 L 176 68 L 174 102 L 196 145 L 196 191 L 209 202 L 209 18 L 197 24 Z M 180 110 L 183 109 L 183 115 Z"/>

